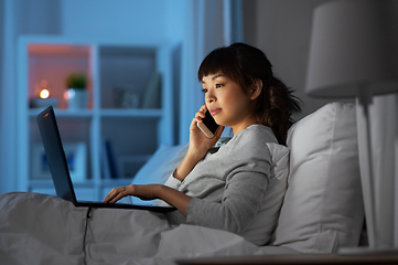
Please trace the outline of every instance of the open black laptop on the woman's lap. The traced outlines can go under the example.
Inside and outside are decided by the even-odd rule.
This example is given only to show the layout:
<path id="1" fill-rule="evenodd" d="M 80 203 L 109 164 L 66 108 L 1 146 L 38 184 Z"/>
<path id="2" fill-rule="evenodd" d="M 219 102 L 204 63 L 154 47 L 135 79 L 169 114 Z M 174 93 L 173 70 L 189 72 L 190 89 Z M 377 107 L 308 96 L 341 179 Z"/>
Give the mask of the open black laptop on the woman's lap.
<path id="1" fill-rule="evenodd" d="M 88 202 L 77 201 L 75 190 L 71 179 L 69 169 L 67 167 L 64 148 L 61 141 L 58 126 L 55 119 L 54 109 L 52 106 L 44 109 L 37 115 L 37 125 L 42 137 L 45 156 L 50 166 L 51 176 L 53 178 L 56 195 L 71 201 L 75 206 L 90 206 L 90 208 L 115 208 L 115 209 L 137 209 L 148 210 L 154 212 L 171 212 L 175 211 L 172 206 L 158 205 L 140 205 L 129 203 L 104 203 L 104 202 Z"/>

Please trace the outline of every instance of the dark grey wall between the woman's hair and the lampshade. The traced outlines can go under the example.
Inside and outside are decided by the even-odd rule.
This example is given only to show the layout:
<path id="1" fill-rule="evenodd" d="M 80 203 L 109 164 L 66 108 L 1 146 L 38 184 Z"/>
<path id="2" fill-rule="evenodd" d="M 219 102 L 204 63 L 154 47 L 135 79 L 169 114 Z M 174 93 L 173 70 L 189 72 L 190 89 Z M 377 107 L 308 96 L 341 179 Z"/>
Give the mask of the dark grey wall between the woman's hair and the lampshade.
<path id="1" fill-rule="evenodd" d="M 304 93 L 312 12 L 331 0 L 245 0 L 244 38 L 261 49 L 273 71 L 303 102 L 299 119 L 330 100 L 309 98 Z"/>

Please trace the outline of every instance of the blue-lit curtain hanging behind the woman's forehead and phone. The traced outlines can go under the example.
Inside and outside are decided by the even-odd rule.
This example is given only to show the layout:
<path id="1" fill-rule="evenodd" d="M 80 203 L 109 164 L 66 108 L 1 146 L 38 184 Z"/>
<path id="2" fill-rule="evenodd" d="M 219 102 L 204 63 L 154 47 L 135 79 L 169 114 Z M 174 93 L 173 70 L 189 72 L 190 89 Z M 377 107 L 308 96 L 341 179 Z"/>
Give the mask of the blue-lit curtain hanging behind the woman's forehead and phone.
<path id="1" fill-rule="evenodd" d="M 204 104 L 197 70 L 203 59 L 214 49 L 241 41 L 241 0 L 192 0 L 187 9 L 184 68 L 181 81 L 180 142 L 190 139 L 190 124 Z"/>

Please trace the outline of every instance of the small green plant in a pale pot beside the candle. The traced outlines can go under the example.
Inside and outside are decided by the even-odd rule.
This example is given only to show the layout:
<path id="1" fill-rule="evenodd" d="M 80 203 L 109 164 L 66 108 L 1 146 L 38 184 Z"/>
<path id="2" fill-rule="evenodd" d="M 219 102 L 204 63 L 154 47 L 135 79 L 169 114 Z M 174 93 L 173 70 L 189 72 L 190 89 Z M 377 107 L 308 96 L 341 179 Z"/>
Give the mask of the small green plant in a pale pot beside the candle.
<path id="1" fill-rule="evenodd" d="M 72 73 L 66 78 L 67 105 L 69 109 L 87 108 L 88 91 L 84 73 Z"/>

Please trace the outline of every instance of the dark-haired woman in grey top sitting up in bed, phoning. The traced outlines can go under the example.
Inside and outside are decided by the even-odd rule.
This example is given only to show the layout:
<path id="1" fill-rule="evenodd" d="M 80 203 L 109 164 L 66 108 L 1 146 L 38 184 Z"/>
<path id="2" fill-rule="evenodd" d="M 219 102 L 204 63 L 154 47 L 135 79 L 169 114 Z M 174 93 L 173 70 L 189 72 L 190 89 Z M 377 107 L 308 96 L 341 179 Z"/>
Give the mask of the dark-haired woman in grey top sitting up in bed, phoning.
<path id="1" fill-rule="evenodd" d="M 105 202 L 127 195 L 161 199 L 180 212 L 170 218 L 173 224 L 222 229 L 259 245 L 267 243 L 270 231 L 267 236 L 257 235 L 258 226 L 279 211 L 272 208 L 270 213 L 265 202 L 272 187 L 267 144 L 284 145 L 291 115 L 300 112 L 298 99 L 271 67 L 260 50 L 243 43 L 208 54 L 198 70 L 205 105 L 192 119 L 190 147 L 180 166 L 164 186 L 115 188 Z M 197 127 L 206 110 L 220 125 L 212 139 Z M 232 127 L 234 137 L 216 153 L 207 153 L 225 126 Z"/>

